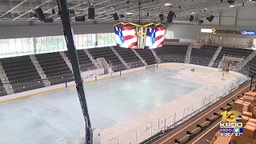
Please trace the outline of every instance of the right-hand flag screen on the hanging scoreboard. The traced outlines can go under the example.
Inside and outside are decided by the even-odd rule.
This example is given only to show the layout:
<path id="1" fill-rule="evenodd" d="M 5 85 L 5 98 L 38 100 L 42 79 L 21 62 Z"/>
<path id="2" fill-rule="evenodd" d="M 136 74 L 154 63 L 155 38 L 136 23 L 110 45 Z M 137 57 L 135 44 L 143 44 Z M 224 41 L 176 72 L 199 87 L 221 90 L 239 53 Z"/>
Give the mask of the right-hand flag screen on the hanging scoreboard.
<path id="1" fill-rule="evenodd" d="M 166 27 L 150 27 L 146 34 L 146 49 L 162 47 Z"/>

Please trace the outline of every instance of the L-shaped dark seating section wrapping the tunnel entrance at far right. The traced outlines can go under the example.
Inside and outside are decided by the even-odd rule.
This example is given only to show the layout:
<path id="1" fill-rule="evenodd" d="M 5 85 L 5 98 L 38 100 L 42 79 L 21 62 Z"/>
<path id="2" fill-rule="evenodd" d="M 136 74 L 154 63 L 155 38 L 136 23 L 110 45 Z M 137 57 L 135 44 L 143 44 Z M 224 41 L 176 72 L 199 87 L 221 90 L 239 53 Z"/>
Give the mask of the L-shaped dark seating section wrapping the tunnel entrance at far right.
<path id="1" fill-rule="evenodd" d="M 253 52 L 253 50 L 249 49 L 241 49 L 241 48 L 234 48 L 234 47 L 222 47 L 222 50 L 218 54 L 218 57 L 214 61 L 213 67 L 218 67 L 219 62 L 222 61 L 224 55 L 233 56 L 236 58 L 242 58 L 243 56 L 248 57 Z"/>

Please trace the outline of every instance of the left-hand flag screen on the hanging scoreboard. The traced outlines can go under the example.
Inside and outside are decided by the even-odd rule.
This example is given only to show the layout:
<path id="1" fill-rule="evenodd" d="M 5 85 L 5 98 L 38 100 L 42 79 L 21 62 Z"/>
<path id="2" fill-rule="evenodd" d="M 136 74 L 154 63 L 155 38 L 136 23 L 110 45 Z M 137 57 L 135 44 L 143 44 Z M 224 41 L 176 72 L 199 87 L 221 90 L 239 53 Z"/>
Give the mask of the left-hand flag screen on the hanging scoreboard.
<path id="1" fill-rule="evenodd" d="M 114 29 L 117 46 L 124 48 L 138 47 L 136 27 L 115 26 Z"/>

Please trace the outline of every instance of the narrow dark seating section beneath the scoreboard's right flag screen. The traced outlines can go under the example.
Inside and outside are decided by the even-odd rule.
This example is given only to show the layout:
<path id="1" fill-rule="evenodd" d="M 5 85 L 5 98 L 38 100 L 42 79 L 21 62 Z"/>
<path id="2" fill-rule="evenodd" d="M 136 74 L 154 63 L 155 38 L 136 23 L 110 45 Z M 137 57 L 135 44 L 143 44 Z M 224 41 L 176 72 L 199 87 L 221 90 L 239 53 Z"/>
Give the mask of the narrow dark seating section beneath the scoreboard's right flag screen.
<path id="1" fill-rule="evenodd" d="M 145 60 L 146 64 L 153 65 L 156 63 L 156 59 L 150 49 L 136 49 L 136 51 Z"/>

